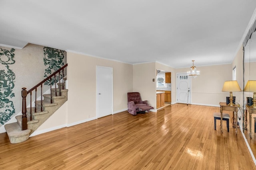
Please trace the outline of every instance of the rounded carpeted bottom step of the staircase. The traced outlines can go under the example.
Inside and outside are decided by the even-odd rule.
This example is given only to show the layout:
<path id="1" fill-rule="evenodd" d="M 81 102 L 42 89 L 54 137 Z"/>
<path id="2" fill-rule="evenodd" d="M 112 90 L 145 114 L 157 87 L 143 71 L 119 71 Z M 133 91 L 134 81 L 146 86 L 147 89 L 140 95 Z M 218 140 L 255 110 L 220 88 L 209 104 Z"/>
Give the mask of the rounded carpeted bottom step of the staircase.
<path id="1" fill-rule="evenodd" d="M 6 124 L 4 128 L 6 129 L 11 143 L 21 143 L 28 140 L 31 131 L 30 129 L 22 131 L 17 122 Z"/>

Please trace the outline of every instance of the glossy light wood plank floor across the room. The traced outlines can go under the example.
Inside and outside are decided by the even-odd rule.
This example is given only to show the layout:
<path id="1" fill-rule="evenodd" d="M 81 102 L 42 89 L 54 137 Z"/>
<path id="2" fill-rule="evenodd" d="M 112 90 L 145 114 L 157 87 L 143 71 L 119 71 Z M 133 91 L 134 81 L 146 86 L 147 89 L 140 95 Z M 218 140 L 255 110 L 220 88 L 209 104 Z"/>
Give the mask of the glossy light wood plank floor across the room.
<path id="1" fill-rule="evenodd" d="M 186 104 L 124 111 L 19 144 L 2 133 L 0 169 L 256 169 L 240 131 L 228 133 L 225 121 L 224 133 L 219 121 L 214 130 L 216 111 Z"/>

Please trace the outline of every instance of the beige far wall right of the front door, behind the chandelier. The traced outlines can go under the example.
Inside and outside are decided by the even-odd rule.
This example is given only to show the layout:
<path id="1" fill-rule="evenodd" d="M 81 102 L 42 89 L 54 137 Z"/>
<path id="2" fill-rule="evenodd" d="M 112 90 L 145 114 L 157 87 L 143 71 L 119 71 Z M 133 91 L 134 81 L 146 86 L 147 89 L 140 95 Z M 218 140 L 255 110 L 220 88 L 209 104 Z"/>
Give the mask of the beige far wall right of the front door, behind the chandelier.
<path id="1" fill-rule="evenodd" d="M 200 76 L 192 78 L 191 104 L 219 106 L 225 102 L 228 92 L 222 92 L 224 81 L 232 80 L 231 64 L 200 66 Z M 187 72 L 188 68 L 176 69 L 176 72 Z"/>

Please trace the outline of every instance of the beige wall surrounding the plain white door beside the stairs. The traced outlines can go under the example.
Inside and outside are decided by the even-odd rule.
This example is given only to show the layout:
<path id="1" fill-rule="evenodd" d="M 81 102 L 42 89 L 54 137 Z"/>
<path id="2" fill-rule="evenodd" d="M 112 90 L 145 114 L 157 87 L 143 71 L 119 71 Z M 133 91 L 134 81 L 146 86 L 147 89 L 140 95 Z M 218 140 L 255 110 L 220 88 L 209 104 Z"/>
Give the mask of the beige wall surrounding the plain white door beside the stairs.
<path id="1" fill-rule="evenodd" d="M 113 68 L 114 113 L 127 109 L 132 92 L 132 65 L 67 52 L 68 124 L 96 118 L 96 66 Z"/>

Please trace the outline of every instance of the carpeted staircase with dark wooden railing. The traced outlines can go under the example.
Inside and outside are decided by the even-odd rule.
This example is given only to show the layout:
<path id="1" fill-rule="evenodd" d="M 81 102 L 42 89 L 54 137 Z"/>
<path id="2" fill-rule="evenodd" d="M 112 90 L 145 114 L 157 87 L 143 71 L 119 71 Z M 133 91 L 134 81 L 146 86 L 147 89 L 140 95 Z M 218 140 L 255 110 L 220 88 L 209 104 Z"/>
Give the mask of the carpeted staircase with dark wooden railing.
<path id="1" fill-rule="evenodd" d="M 65 66 L 67 66 L 67 64 Z M 61 70 L 63 71 L 63 77 L 64 77 L 64 68 L 62 67 L 60 69 L 60 71 Z M 60 71 L 59 72 L 58 71 L 56 72 L 59 73 Z M 55 78 L 55 74 L 57 74 L 56 72 L 53 73 L 54 78 Z M 51 78 L 52 75 L 49 77 Z M 45 81 L 46 80 L 47 78 L 45 79 Z M 66 78 L 64 78 L 64 80 L 66 80 Z M 42 93 L 42 84 L 44 82 L 43 81 L 40 82 L 41 84 L 39 85 L 41 86 L 41 93 Z M 44 99 L 41 98 L 41 100 L 36 101 L 35 107 L 28 107 L 24 109 L 23 106 L 26 106 L 26 102 L 25 104 L 23 103 L 22 113 L 23 112 L 24 113 L 22 115 L 18 115 L 15 117 L 17 119 L 17 122 L 4 125 L 11 143 L 21 143 L 28 140 L 29 136 L 40 125 L 42 125 L 42 123 L 44 123 L 44 121 L 46 121 L 60 106 L 62 106 L 62 104 L 64 104 L 68 100 L 68 90 L 65 89 L 65 82 L 55 83 L 55 86 L 56 84 L 58 85 L 58 88 L 52 88 L 52 86 L 50 86 L 51 94 L 41 94 L 41 96 L 43 96 Z M 26 89 L 26 88 L 22 88 L 22 89 Z M 32 90 L 29 90 L 28 92 L 32 94 Z M 25 100 L 26 100 L 26 97 L 25 97 Z M 30 97 L 30 105 L 31 105 L 31 97 Z M 24 127 L 25 127 L 25 130 L 22 130 L 24 129 Z"/>

